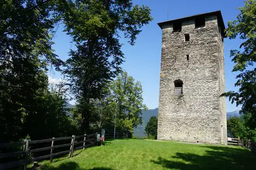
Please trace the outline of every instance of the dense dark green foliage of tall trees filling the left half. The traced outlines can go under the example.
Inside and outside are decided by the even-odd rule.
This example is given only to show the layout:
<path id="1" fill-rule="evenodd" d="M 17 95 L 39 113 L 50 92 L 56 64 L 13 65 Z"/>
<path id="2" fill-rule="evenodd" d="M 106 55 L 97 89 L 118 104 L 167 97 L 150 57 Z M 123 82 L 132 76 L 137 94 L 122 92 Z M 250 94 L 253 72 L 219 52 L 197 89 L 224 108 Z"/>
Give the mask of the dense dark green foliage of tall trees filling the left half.
<path id="1" fill-rule="evenodd" d="M 71 135 L 113 120 L 110 101 L 99 99 L 121 71 L 119 33 L 133 45 L 141 27 L 152 20 L 148 7 L 131 1 L 4 0 L 0 11 L 1 142 Z M 67 89 L 59 84 L 49 90 L 46 74 L 48 66 L 60 71 L 63 64 L 52 49 L 59 22 L 76 44 L 63 70 L 78 102 L 72 117 L 65 108 Z"/>

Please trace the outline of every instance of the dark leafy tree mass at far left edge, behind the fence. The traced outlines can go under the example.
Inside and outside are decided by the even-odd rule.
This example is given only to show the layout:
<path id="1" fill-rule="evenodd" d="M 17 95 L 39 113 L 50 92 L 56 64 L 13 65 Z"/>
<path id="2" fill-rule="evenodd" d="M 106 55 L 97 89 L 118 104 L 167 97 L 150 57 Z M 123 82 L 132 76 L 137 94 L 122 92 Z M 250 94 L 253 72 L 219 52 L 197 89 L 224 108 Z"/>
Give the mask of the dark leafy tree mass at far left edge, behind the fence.
<path id="1" fill-rule="evenodd" d="M 48 90 L 47 66 L 59 21 L 52 0 L 0 1 L 0 141 L 52 137 L 64 132 L 64 99 Z M 32 127 L 32 128 L 31 128 Z M 49 129 L 50 128 L 50 129 Z M 61 129 L 61 130 L 60 130 Z"/>

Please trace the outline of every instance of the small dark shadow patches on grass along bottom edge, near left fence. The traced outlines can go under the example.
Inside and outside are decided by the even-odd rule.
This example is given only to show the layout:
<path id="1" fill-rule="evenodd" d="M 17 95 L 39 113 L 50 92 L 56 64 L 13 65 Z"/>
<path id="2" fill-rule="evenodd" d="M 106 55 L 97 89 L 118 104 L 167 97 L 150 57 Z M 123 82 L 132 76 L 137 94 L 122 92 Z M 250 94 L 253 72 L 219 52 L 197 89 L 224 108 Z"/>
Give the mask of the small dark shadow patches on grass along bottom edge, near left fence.
<path id="1" fill-rule="evenodd" d="M 79 164 L 76 162 L 65 162 L 61 163 L 58 167 L 51 167 L 50 165 L 46 165 L 42 168 L 42 170 L 61 170 L 61 169 L 67 169 L 67 170 L 85 170 L 85 168 L 81 168 Z M 104 168 L 104 167 L 95 167 L 95 168 L 90 168 L 94 170 L 112 170 L 112 168 Z"/>

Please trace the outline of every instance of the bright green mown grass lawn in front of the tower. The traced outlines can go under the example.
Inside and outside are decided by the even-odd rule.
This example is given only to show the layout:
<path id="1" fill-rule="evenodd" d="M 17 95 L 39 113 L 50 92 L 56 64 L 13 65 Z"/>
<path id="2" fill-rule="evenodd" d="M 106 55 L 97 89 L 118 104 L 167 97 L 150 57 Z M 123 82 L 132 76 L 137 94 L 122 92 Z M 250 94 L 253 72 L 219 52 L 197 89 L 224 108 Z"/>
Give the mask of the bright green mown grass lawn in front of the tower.
<path id="1" fill-rule="evenodd" d="M 242 147 L 115 139 L 76 151 L 40 169 L 255 169 L 256 155 Z"/>

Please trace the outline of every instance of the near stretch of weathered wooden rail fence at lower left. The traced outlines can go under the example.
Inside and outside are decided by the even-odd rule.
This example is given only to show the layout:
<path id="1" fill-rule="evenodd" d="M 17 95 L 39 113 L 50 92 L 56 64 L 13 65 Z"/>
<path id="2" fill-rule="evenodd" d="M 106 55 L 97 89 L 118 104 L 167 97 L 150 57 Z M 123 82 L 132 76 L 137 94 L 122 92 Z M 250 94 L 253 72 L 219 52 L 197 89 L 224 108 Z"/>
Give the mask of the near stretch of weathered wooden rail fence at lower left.
<path id="1" fill-rule="evenodd" d="M 69 141 L 69 143 L 64 142 L 64 144 L 55 145 L 56 141 L 66 141 L 66 142 Z M 42 145 L 42 143 L 47 143 L 47 142 L 49 142 L 51 144 L 51 146 L 30 149 L 32 145 L 36 145 L 36 144 Z M 0 164 L 0 169 L 14 168 L 14 167 L 22 166 L 22 165 L 24 165 L 24 169 L 27 169 L 27 164 L 29 163 L 28 160 L 31 160 L 32 162 L 34 162 L 37 160 L 50 158 L 50 163 L 52 163 L 52 158 L 54 156 L 69 153 L 69 157 L 72 157 L 73 151 L 92 146 L 92 145 L 94 145 L 94 142 L 95 142 L 95 134 L 89 134 L 89 135 L 84 134 L 84 135 L 80 135 L 80 136 L 72 135 L 72 137 L 51 138 L 51 139 L 43 139 L 43 140 L 38 140 L 38 141 L 26 140 L 24 142 L 1 143 L 0 148 L 12 147 L 12 146 L 23 146 L 23 151 L 0 154 L 0 159 L 10 158 L 10 157 L 18 157 L 18 156 L 21 156 L 23 159 Z M 81 145 L 81 146 L 79 146 L 79 145 Z M 53 151 L 54 149 L 61 148 L 61 147 L 62 148 L 68 147 L 68 150 L 54 153 L 54 151 Z M 50 150 L 49 155 L 38 156 L 36 158 L 28 158 L 32 153 L 46 151 L 46 150 Z"/>

